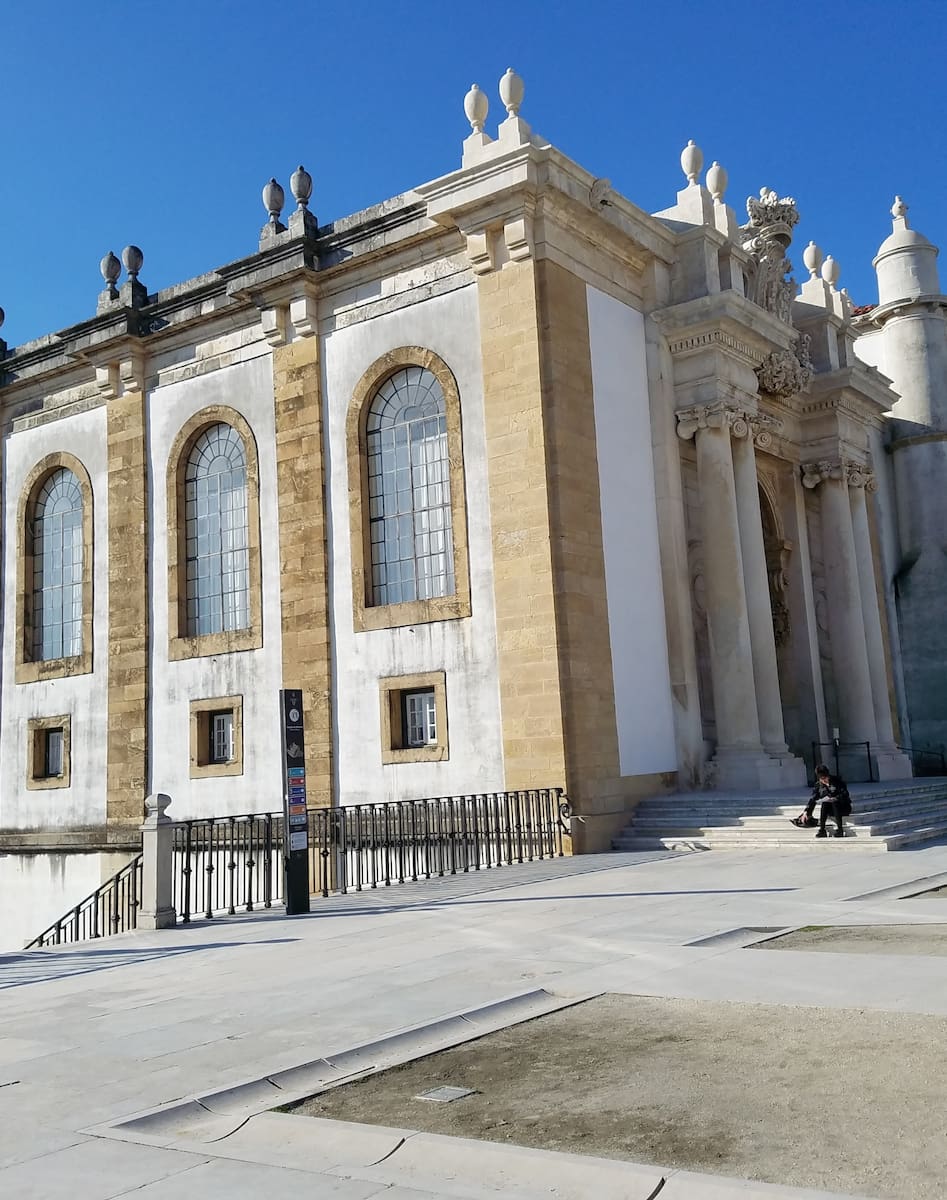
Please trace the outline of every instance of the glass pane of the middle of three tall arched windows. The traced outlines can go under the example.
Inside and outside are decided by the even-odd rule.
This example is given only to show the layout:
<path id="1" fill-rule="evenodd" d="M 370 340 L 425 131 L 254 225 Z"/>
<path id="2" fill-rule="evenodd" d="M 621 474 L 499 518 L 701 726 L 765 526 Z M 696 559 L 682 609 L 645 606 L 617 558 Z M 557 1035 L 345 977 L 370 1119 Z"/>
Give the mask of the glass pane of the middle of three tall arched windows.
<path id="1" fill-rule="evenodd" d="M 250 625 L 246 452 L 236 430 L 211 425 L 184 480 L 187 636 Z"/>

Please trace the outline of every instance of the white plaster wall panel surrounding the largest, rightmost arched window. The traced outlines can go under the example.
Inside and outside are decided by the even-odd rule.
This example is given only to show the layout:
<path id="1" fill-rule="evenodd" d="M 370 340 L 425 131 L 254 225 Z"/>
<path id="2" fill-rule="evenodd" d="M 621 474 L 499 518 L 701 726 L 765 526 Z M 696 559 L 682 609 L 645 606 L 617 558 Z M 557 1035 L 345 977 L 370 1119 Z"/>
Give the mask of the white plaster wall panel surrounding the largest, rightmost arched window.
<path id="1" fill-rule="evenodd" d="M 352 611 L 346 419 L 361 374 L 382 354 L 401 346 L 422 346 L 440 355 L 460 389 L 473 614 L 461 620 L 356 634 Z M 475 286 L 336 329 L 324 340 L 323 371 L 340 803 L 502 788 L 503 744 Z M 444 762 L 383 766 L 378 680 L 428 671 L 446 674 L 450 757 Z"/>

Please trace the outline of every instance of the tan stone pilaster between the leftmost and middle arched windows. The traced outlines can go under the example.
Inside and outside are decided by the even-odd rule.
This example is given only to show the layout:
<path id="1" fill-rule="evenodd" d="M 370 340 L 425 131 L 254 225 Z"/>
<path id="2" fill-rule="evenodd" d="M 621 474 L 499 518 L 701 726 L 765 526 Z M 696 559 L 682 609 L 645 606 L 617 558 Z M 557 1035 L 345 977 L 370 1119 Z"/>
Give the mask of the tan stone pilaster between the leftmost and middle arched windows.
<path id="1" fill-rule="evenodd" d="M 137 828 L 148 793 L 149 575 L 145 398 L 139 367 L 122 364 L 107 401 L 109 836 Z"/>

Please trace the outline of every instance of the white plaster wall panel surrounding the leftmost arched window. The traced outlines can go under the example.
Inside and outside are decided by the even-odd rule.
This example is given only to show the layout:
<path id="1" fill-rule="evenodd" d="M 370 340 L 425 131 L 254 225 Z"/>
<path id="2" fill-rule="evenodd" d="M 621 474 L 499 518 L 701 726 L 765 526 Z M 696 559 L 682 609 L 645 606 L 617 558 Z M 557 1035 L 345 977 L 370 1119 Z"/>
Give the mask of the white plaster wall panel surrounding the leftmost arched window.
<path id="1" fill-rule="evenodd" d="M 68 451 L 83 463 L 92 486 L 92 673 L 17 684 L 17 510 L 26 475 L 48 454 Z M 106 410 L 95 408 L 13 432 L 4 462 L 2 703 L 0 703 L 0 828 L 61 829 L 106 820 L 108 455 Z M 26 790 L 31 716 L 72 718 L 68 787 Z"/>

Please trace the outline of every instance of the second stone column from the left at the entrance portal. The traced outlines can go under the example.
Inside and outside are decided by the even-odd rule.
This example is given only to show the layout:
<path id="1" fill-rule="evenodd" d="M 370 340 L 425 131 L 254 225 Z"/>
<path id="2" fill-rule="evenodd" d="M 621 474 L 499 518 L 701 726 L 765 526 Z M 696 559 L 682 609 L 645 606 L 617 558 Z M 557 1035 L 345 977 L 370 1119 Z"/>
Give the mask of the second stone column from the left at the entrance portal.
<path id="1" fill-rule="evenodd" d="M 756 478 L 755 431 L 745 420 L 733 422 L 733 475 L 737 488 L 737 516 L 743 552 L 743 582 L 747 589 L 747 614 L 753 644 L 753 674 L 756 682 L 756 707 L 760 736 L 768 754 L 787 752 L 783 728 L 783 701 L 779 695 L 777 643 L 773 636 L 773 610 L 763 547 L 760 515 L 760 484 Z"/>

